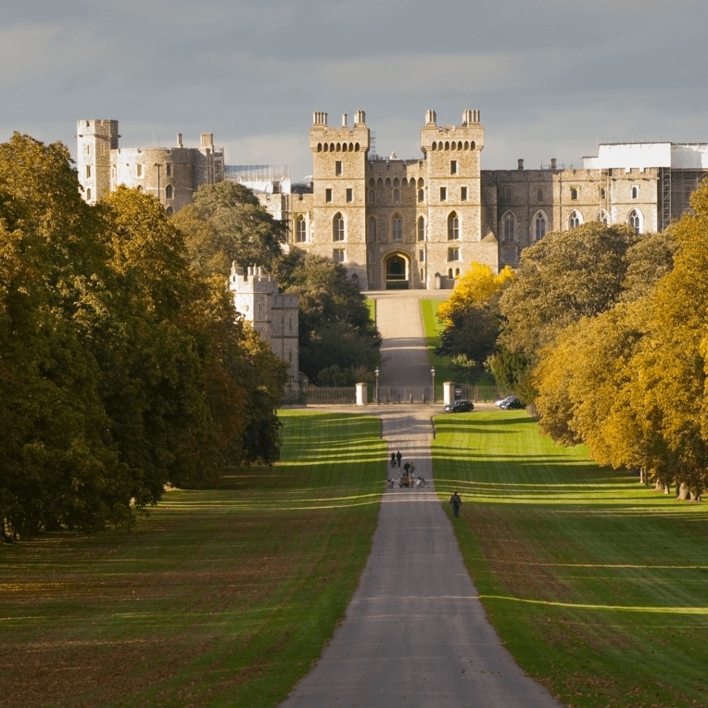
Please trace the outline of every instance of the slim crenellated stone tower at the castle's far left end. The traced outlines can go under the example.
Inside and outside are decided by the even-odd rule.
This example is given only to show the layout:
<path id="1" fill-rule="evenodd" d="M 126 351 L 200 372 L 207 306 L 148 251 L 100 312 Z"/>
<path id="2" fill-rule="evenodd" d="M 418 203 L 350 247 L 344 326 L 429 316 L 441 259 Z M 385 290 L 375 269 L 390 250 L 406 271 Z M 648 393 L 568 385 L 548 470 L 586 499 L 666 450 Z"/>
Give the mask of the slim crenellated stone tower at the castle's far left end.
<path id="1" fill-rule="evenodd" d="M 76 168 L 89 204 L 110 193 L 110 151 L 118 149 L 118 120 L 76 122 Z"/>

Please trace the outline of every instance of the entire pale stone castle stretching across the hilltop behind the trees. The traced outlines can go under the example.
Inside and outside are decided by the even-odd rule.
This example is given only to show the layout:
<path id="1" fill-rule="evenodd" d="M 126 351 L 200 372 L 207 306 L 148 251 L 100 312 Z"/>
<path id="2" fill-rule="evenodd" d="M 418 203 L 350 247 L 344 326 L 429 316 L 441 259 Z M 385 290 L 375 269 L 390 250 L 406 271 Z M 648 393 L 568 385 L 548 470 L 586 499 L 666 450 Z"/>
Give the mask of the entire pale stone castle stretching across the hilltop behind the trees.
<path id="1" fill-rule="evenodd" d="M 515 268 L 527 246 L 584 222 L 665 228 L 690 208 L 708 175 L 707 144 L 600 144 L 583 168 L 482 170 L 479 110 L 460 125 L 438 125 L 428 110 L 421 157 L 373 154 L 364 111 L 340 127 L 316 112 L 309 129 L 312 178 L 240 166 L 229 173 L 211 133 L 198 148 L 120 149 L 118 121 L 79 120 L 79 180 L 90 203 L 119 184 L 156 195 L 168 213 L 202 184 L 253 182 L 263 205 L 288 227 L 288 245 L 342 263 L 361 290 L 453 287 L 471 262 Z"/>

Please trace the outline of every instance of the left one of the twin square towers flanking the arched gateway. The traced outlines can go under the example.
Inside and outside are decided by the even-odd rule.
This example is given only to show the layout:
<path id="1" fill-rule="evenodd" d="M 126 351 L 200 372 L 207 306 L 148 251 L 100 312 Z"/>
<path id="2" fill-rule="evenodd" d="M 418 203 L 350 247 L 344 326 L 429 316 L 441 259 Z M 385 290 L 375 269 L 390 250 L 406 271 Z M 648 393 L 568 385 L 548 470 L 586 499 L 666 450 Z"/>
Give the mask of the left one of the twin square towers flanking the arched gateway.
<path id="1" fill-rule="evenodd" d="M 312 215 L 309 250 L 342 263 L 362 290 L 367 288 L 366 161 L 370 147 L 366 115 L 358 110 L 353 127 L 346 113 L 341 127 L 329 127 L 316 112 L 309 131 L 312 151 Z M 299 215 L 294 214 L 297 221 Z"/>

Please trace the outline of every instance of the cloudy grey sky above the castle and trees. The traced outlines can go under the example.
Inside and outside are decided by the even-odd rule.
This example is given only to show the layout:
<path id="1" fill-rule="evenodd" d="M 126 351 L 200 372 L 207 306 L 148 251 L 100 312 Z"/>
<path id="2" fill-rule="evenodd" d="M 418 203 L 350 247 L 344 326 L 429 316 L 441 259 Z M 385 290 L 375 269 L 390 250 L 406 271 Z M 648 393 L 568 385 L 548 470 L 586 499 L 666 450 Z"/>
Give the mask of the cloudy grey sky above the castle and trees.
<path id="1" fill-rule="evenodd" d="M 366 111 L 379 155 L 481 111 L 482 169 L 582 166 L 607 139 L 708 142 L 705 0 L 23 0 L 0 3 L 0 141 L 76 154 L 76 121 L 121 147 L 197 146 L 312 173 L 312 113 Z"/>

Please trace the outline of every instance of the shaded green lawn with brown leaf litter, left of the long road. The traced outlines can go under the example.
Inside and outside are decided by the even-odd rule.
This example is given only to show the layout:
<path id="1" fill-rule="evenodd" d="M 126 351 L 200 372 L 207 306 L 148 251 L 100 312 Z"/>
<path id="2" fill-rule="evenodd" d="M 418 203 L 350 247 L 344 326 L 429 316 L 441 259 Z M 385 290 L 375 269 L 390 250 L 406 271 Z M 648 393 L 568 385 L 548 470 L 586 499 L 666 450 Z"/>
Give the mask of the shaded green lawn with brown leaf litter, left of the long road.
<path id="1" fill-rule="evenodd" d="M 282 457 L 170 491 L 132 532 L 0 547 L 3 708 L 275 706 L 370 549 L 378 418 L 283 411 Z"/>

